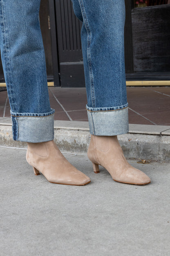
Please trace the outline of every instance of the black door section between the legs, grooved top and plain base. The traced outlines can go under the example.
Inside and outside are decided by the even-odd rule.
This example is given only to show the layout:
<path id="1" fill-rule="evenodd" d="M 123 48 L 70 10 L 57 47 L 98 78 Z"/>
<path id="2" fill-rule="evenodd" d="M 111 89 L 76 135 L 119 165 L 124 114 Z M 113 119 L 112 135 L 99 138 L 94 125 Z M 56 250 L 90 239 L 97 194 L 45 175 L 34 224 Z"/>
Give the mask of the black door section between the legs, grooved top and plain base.
<path id="1" fill-rule="evenodd" d="M 85 87 L 81 21 L 71 0 L 56 0 L 56 26 L 61 87 Z"/>

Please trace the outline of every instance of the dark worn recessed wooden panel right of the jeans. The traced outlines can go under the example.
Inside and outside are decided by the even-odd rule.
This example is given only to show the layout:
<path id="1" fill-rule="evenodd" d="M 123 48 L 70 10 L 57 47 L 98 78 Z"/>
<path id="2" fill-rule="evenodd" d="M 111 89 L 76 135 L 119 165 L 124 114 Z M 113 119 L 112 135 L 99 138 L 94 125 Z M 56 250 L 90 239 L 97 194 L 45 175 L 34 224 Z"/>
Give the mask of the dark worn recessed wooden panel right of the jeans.
<path id="1" fill-rule="evenodd" d="M 170 75 L 170 5 L 132 10 L 134 72 Z"/>

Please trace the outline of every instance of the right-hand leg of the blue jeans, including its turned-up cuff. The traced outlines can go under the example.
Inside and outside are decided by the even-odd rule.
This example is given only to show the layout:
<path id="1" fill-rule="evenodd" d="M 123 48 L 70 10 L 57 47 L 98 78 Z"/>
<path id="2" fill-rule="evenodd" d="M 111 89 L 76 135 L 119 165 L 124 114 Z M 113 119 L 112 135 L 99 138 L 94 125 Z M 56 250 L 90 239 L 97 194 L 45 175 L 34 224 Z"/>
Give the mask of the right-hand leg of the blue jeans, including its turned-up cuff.
<path id="1" fill-rule="evenodd" d="M 127 133 L 124 0 L 72 0 L 83 21 L 81 42 L 90 133 Z M 79 3 L 79 6 L 78 6 Z M 81 12 L 80 12 L 81 11 Z"/>

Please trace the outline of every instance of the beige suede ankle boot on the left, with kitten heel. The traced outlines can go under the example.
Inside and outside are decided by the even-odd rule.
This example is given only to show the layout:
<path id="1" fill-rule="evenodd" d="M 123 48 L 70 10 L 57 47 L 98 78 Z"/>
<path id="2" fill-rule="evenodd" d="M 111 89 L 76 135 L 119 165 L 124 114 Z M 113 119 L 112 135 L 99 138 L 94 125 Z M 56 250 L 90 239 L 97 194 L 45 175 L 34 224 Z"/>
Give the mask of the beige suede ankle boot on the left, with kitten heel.
<path id="1" fill-rule="evenodd" d="M 41 172 L 47 181 L 65 185 L 85 185 L 90 182 L 89 177 L 67 161 L 54 140 L 27 144 L 26 159 L 35 175 Z"/>

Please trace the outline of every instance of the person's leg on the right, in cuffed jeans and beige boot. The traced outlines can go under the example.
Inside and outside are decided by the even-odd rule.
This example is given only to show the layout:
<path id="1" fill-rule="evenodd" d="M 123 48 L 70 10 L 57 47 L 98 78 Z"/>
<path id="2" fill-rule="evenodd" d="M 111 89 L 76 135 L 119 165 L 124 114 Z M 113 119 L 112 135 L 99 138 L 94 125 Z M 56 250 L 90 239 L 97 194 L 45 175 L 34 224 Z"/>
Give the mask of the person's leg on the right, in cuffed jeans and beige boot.
<path id="1" fill-rule="evenodd" d="M 150 183 L 148 176 L 125 160 L 117 136 L 128 133 L 124 59 L 124 0 L 72 0 L 83 22 L 81 42 L 91 142 L 88 157 L 94 171 L 104 166 L 114 180 Z"/>

